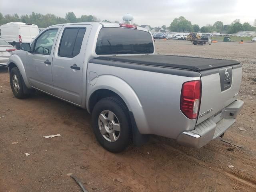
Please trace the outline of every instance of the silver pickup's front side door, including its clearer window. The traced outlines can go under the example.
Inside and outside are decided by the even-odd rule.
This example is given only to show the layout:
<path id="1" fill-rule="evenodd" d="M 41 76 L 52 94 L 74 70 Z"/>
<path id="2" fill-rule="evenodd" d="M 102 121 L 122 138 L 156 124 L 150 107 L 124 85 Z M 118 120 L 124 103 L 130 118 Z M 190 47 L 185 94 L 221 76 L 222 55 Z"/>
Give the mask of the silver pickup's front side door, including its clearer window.
<path id="1" fill-rule="evenodd" d="M 31 44 L 26 56 L 26 73 L 30 84 L 42 91 L 54 94 L 52 83 L 52 56 L 60 28 L 50 28 Z"/>

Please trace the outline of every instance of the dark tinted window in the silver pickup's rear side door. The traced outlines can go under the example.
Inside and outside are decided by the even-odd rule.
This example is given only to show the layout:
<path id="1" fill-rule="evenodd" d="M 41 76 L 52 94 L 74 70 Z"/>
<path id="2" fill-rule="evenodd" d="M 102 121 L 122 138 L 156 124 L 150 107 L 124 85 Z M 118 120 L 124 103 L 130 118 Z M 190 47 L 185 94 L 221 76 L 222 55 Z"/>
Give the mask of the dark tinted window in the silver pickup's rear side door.
<path id="1" fill-rule="evenodd" d="M 60 40 L 58 56 L 74 57 L 80 53 L 86 28 L 66 28 Z"/>

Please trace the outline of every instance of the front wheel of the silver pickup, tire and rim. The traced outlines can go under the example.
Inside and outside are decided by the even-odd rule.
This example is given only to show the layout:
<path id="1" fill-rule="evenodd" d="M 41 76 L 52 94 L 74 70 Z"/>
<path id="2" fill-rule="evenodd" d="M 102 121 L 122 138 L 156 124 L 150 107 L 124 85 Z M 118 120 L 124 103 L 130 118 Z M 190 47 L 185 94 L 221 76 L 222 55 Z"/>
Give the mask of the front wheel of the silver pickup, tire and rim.
<path id="1" fill-rule="evenodd" d="M 12 68 L 10 71 L 10 86 L 12 88 L 12 93 L 18 99 L 24 99 L 29 96 L 28 94 L 24 93 L 23 83 L 24 81 L 18 68 Z"/>

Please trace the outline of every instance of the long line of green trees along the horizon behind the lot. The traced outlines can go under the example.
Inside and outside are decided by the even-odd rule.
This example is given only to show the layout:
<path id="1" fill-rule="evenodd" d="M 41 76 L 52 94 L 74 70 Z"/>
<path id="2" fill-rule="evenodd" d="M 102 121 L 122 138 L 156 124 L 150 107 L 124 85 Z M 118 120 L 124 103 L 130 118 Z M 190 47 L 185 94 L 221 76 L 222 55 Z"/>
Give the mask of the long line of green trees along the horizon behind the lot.
<path id="1" fill-rule="evenodd" d="M 32 23 L 38 25 L 40 28 L 46 28 L 54 24 L 61 23 L 72 23 L 72 22 L 100 22 L 96 16 L 93 15 L 82 15 L 79 18 L 76 17 L 74 12 L 66 13 L 65 18 L 55 16 L 54 14 L 40 14 L 32 12 L 30 15 L 18 16 L 18 14 L 7 14 L 3 16 L 0 13 L 0 25 L 6 24 L 8 22 L 24 22 Z M 102 22 L 110 22 L 109 20 L 102 20 Z M 115 21 L 119 23 L 118 21 Z M 138 24 L 135 24 L 138 26 Z M 151 28 L 151 27 L 150 27 Z M 153 28 L 151 28 L 153 29 Z M 251 26 L 248 22 L 241 24 L 240 20 L 234 20 L 230 25 L 224 25 L 221 21 L 216 21 L 213 25 L 206 25 L 199 27 L 198 24 L 193 24 L 186 20 L 183 16 L 179 18 L 174 18 L 169 27 L 163 25 L 162 27 L 156 27 L 155 30 L 159 31 L 160 29 L 166 30 L 169 29 L 172 32 L 220 32 L 233 34 L 238 31 L 254 31 L 256 30 L 256 19 L 254 20 L 254 26 Z"/>

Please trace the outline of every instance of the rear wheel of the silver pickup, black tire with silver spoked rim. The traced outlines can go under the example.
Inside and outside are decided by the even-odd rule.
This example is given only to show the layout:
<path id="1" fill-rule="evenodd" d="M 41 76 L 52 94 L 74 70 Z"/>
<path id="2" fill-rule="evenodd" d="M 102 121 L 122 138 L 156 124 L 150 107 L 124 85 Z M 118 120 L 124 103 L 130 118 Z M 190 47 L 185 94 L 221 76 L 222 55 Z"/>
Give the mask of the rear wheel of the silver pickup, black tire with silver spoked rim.
<path id="1" fill-rule="evenodd" d="M 132 144 L 128 108 L 118 97 L 103 98 L 96 103 L 92 110 L 92 128 L 100 145 L 110 152 L 122 152 Z"/>

